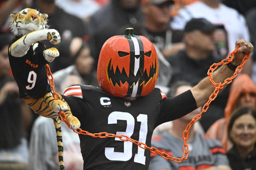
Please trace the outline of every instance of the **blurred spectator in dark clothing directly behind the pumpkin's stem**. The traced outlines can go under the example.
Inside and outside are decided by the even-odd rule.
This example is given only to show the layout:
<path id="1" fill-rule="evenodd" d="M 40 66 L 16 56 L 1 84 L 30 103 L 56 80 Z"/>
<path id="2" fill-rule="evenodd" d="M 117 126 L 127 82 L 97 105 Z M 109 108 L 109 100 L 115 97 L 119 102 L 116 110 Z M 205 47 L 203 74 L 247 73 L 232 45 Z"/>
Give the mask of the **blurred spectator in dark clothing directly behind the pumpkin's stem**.
<path id="1" fill-rule="evenodd" d="M 95 66 L 98 64 L 100 49 L 108 38 L 117 35 L 116 31 L 120 27 L 133 27 L 143 21 L 140 0 L 111 0 L 110 4 L 93 14 L 88 23 L 88 31 Z"/>

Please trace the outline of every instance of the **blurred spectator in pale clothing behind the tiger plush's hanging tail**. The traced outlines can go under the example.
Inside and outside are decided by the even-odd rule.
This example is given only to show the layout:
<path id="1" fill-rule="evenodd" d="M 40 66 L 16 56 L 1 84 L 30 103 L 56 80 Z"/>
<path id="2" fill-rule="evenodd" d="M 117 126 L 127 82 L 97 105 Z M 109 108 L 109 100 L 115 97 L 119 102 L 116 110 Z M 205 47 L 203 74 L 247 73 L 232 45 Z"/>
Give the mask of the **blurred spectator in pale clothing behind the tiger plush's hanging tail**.
<path id="1" fill-rule="evenodd" d="M 76 75 L 67 75 L 62 80 L 61 89 L 72 84 L 80 84 Z M 63 147 L 64 166 L 66 170 L 82 170 L 83 159 L 80 150 L 80 140 L 77 133 L 69 129 L 64 122 L 60 122 Z M 58 147 L 53 120 L 39 116 L 34 122 L 29 146 L 29 170 L 57 170 Z"/>

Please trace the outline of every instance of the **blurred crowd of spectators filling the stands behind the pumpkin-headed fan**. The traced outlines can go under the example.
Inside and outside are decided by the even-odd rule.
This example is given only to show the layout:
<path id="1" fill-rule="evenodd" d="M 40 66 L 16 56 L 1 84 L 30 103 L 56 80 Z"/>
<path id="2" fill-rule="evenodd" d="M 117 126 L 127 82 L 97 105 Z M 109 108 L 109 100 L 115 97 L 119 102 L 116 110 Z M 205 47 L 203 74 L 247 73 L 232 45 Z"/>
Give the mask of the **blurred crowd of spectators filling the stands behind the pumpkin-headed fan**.
<path id="1" fill-rule="evenodd" d="M 0 169 L 58 169 L 52 119 L 39 117 L 18 98 L 8 45 L 10 14 L 23 8 L 48 14 L 59 31 L 60 56 L 50 63 L 56 91 L 74 84 L 98 86 L 96 68 L 104 42 L 127 27 L 147 37 L 159 60 L 156 87 L 173 97 L 198 84 L 244 39 L 256 46 L 254 0 L 1 0 L 0 1 Z M 46 47 L 52 47 L 48 41 Z M 239 76 L 191 128 L 191 158 L 178 164 L 151 155 L 150 170 L 256 170 L 256 51 Z M 200 109 L 158 126 L 152 146 L 182 157 L 182 132 Z M 86 129 L 84 129 L 86 130 Z M 67 170 L 83 167 L 78 135 L 62 125 Z M 183 170 L 182 169 L 182 170 Z"/>

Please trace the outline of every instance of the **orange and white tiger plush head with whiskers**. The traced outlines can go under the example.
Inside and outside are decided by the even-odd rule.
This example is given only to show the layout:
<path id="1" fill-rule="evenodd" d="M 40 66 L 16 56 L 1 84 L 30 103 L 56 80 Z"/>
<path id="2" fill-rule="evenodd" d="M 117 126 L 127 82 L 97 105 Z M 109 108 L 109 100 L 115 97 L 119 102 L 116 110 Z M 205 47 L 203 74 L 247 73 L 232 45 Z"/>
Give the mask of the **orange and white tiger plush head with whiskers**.
<path id="1" fill-rule="evenodd" d="M 26 8 L 18 13 L 12 13 L 11 16 L 10 29 L 14 35 L 25 35 L 48 27 L 48 15 L 34 9 Z"/>

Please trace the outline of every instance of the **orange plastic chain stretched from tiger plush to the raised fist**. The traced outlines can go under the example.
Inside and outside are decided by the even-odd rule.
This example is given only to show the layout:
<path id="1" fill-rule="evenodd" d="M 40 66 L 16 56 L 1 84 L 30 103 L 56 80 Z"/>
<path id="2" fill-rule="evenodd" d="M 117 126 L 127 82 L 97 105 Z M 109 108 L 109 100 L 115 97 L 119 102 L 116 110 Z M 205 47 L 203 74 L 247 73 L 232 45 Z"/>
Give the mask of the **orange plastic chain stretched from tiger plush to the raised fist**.
<path id="1" fill-rule="evenodd" d="M 212 66 L 210 66 L 207 75 L 209 76 L 210 82 L 212 82 L 212 84 L 215 87 L 214 92 L 210 95 L 209 100 L 206 104 L 204 104 L 204 106 L 202 107 L 202 112 L 199 113 L 198 115 L 196 115 L 195 117 L 193 117 L 192 121 L 190 121 L 190 123 L 188 123 L 186 129 L 183 131 L 183 139 L 184 139 L 184 145 L 183 145 L 183 155 L 182 158 L 176 158 L 176 157 L 172 157 L 170 155 L 168 155 L 166 152 L 161 152 L 158 149 L 156 149 L 155 147 L 148 147 L 146 144 L 136 141 L 134 139 L 131 139 L 130 137 L 126 136 L 126 135 L 115 135 L 113 133 L 107 133 L 107 132 L 100 132 L 100 133 L 89 133 L 88 131 L 83 131 L 82 129 L 78 128 L 76 129 L 72 129 L 70 127 L 70 125 L 68 124 L 67 120 L 66 120 L 66 115 L 60 111 L 60 119 L 62 121 L 64 121 L 66 123 L 66 125 L 72 129 L 75 133 L 78 134 L 82 134 L 82 135 L 89 135 L 91 137 L 98 137 L 98 138 L 107 138 L 107 137 L 117 137 L 119 138 L 121 141 L 130 141 L 132 143 L 134 143 L 135 145 L 138 145 L 140 148 L 142 149 L 148 149 L 150 150 L 150 152 L 154 153 L 154 154 L 159 154 L 161 155 L 163 158 L 165 159 L 169 159 L 172 160 L 174 162 L 181 162 L 184 159 L 188 158 L 188 145 L 187 145 L 187 140 L 188 140 L 188 131 L 190 129 L 190 127 L 201 118 L 202 113 L 206 112 L 210 103 L 217 97 L 219 90 L 223 88 L 223 86 L 225 84 L 230 84 L 232 82 L 232 80 L 234 78 L 236 78 L 236 76 L 238 75 L 238 73 L 240 73 L 242 71 L 242 66 L 244 65 L 244 63 L 246 63 L 247 59 L 250 57 L 249 55 L 244 55 L 244 59 L 242 60 L 241 64 L 236 68 L 235 73 L 233 74 L 232 77 L 230 78 L 226 78 L 226 80 L 224 80 L 224 83 L 215 83 L 214 80 L 212 79 L 212 73 L 214 72 L 214 70 L 216 70 L 216 68 L 218 68 L 218 66 L 220 65 L 224 65 L 224 64 L 228 64 L 230 63 L 233 58 L 234 58 L 234 54 L 238 51 L 238 47 L 236 47 L 236 49 L 234 51 L 232 51 L 232 53 L 230 53 L 227 59 L 222 60 L 220 63 L 214 63 L 212 64 Z M 53 92 L 54 92 L 54 98 L 56 100 L 58 100 L 58 95 L 54 90 L 54 81 L 53 81 L 53 76 L 52 76 L 52 72 L 50 70 L 50 67 L 48 64 L 46 64 L 46 71 L 47 71 L 47 77 L 50 83 L 50 87 L 52 88 Z M 51 78 L 49 77 L 51 76 Z M 206 108 L 205 108 L 206 107 Z M 124 137 L 124 138 L 123 138 Z"/>

